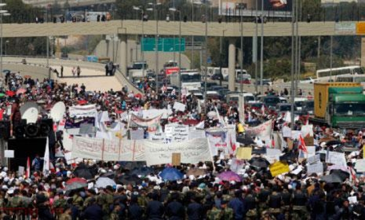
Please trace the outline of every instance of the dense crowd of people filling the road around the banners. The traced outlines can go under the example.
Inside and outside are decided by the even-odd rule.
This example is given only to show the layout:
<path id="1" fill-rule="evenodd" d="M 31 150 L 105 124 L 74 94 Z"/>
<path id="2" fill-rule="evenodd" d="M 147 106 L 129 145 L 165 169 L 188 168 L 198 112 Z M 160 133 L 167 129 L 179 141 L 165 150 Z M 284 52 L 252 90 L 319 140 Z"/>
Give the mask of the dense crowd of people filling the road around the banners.
<path id="1" fill-rule="evenodd" d="M 98 110 L 108 111 L 110 120 L 116 121 L 119 120 L 117 114 L 129 110 L 171 108 L 178 98 L 166 92 L 156 94 L 153 90 L 146 90 L 145 94 L 135 94 L 128 91 L 127 86 L 120 91 L 88 91 L 83 84 L 66 85 L 57 80 L 38 80 L 31 77 L 20 80 L 17 75 L 9 76 L 6 85 L 7 88 L 0 91 L 5 94 L 0 97 L 0 105 L 4 112 L 3 117 L 9 117 L 13 125 L 21 120 L 19 106 L 28 101 L 41 105 L 39 118 L 47 117 L 52 106 L 63 101 L 67 107 L 81 103 L 96 104 Z M 25 92 L 17 93 L 20 88 L 24 88 Z M 217 109 L 225 123 L 236 124 L 237 134 L 244 135 L 245 126 L 239 118 L 237 103 L 209 100 L 206 111 L 202 111 L 199 107 L 201 103 L 194 95 L 183 97 L 182 102 L 186 104 L 186 110 L 172 109 L 171 115 L 161 121 L 162 125 L 187 121 L 195 121 L 195 125 L 204 121 L 203 128 L 219 127 L 222 122 L 207 115 L 207 112 Z M 13 106 L 10 115 L 5 113 L 9 105 Z M 246 121 L 253 117 L 259 122 L 274 119 L 274 130 L 277 131 L 284 126 L 290 126 L 280 115 L 265 110 L 246 107 L 244 115 Z M 294 128 L 300 130 L 304 121 L 305 119 L 296 121 Z M 354 147 L 354 152 L 347 154 L 349 170 L 353 169 L 356 159 L 362 158 L 364 130 L 332 130 L 316 126 L 313 131 L 316 151 L 334 148 L 323 145 L 320 141 L 323 137 L 332 137 Z M 254 149 L 253 154 L 264 154 L 268 143 L 262 143 L 249 145 Z M 33 160 L 29 176 L 19 175 L 6 166 L 1 167 L 1 218 L 27 216 L 39 220 L 364 220 L 365 176 L 349 175 L 342 183 L 327 183 L 317 174 L 307 175 L 305 159 L 298 160 L 298 148 L 295 140 L 293 147 L 282 148 L 291 172 L 276 177 L 271 175 L 268 167 L 253 166 L 247 160 L 240 160 L 240 182 L 222 181 L 218 178 L 219 173 L 230 170 L 234 163 L 238 163 L 234 155 L 215 155 L 213 161 L 207 158 L 207 161 L 212 162 L 175 166 L 184 174 L 177 181 L 164 181 L 159 177 L 159 172 L 164 167 L 171 166 L 168 164 L 153 166 L 149 173 L 131 176 L 132 170 L 144 165 L 86 159 L 79 163 L 70 163 L 64 158 L 55 157 L 51 174 L 45 176 L 40 171 L 41 159 L 37 156 Z M 302 171 L 292 173 L 299 167 Z M 92 178 L 88 179 L 88 186 L 67 190 L 66 182 L 78 176 L 76 170 L 79 169 L 90 171 Z M 190 175 L 192 170 L 204 172 Z M 98 177 L 106 175 L 117 184 L 97 187 L 95 183 Z M 131 180 L 132 177 L 135 179 Z M 356 202 L 350 203 L 349 197 L 356 197 Z"/>

